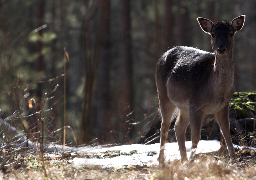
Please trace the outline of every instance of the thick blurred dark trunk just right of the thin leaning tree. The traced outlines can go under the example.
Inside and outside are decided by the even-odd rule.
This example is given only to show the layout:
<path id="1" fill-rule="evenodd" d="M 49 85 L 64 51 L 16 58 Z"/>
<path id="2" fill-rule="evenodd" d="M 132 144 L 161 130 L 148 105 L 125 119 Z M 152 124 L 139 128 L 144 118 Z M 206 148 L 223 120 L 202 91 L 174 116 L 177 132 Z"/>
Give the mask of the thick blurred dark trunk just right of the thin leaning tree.
<path id="1" fill-rule="evenodd" d="M 105 143 L 109 138 L 109 68 L 110 68 L 110 0 L 100 0 L 100 52 L 97 76 L 98 141 Z"/>

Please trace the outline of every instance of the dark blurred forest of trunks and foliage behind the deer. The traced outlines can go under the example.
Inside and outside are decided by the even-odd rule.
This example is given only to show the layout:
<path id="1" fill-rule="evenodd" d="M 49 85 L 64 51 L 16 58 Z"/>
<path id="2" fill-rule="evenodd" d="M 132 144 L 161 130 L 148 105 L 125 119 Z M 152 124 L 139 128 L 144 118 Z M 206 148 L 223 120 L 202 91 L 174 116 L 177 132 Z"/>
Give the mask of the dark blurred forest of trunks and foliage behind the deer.
<path id="1" fill-rule="evenodd" d="M 72 132 L 80 144 L 135 142 L 158 118 L 161 55 L 174 46 L 212 52 L 197 17 L 246 15 L 236 90 L 256 90 L 255 9 L 254 0 L 0 0 L 0 117 L 61 143 L 66 75 L 68 142 Z"/>

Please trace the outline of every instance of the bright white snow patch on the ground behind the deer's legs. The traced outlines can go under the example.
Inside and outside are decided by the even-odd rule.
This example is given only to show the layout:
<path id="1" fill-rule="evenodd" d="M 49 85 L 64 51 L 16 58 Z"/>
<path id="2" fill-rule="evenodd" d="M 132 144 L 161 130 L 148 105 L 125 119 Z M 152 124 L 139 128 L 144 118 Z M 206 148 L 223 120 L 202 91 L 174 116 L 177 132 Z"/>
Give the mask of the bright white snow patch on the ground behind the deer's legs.
<path id="1" fill-rule="evenodd" d="M 191 141 L 186 141 L 187 155 L 190 157 L 189 150 L 191 149 Z M 237 147 L 234 145 L 234 147 Z M 110 148 L 95 148 L 95 147 L 85 147 L 79 148 L 78 154 L 100 154 L 104 152 L 115 152 L 120 151 L 119 156 L 112 158 L 78 158 L 75 157 L 70 162 L 74 165 L 99 165 L 104 167 L 118 167 L 118 166 L 128 166 L 128 165 L 147 165 L 156 164 L 160 148 L 160 143 L 142 145 L 142 144 L 132 144 L 132 145 L 122 145 Z M 217 140 L 201 140 L 198 143 L 196 154 L 208 153 L 217 151 L 220 148 L 220 142 Z M 133 153 L 131 153 L 133 152 Z M 134 153 L 135 152 L 135 153 Z M 177 142 L 166 143 L 165 144 L 165 160 L 172 161 L 175 159 L 180 159 L 180 151 Z"/>

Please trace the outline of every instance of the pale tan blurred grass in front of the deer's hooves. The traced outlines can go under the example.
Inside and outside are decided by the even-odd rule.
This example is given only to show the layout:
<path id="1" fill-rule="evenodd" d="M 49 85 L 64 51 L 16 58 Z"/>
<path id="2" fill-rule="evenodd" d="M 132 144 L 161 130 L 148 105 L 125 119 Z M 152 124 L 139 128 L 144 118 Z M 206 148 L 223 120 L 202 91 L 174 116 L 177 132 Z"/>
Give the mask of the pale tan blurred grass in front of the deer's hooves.
<path id="1" fill-rule="evenodd" d="M 184 163 L 168 162 L 161 170 L 151 168 L 151 173 L 153 179 L 256 179 L 254 162 L 231 164 L 209 155 L 200 155 L 199 158 Z"/>

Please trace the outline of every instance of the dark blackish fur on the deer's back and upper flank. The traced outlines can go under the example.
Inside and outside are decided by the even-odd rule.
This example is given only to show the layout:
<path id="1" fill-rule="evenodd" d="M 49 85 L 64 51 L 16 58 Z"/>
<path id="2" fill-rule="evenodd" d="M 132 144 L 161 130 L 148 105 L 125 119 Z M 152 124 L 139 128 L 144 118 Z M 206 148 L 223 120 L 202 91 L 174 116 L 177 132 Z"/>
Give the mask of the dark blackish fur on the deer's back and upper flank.
<path id="1" fill-rule="evenodd" d="M 174 47 L 159 59 L 156 73 L 165 83 L 166 77 L 171 77 L 183 86 L 202 86 L 213 73 L 213 66 L 213 53 L 192 47 Z"/>

